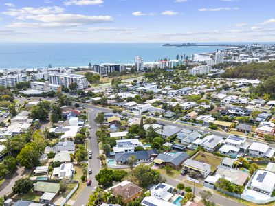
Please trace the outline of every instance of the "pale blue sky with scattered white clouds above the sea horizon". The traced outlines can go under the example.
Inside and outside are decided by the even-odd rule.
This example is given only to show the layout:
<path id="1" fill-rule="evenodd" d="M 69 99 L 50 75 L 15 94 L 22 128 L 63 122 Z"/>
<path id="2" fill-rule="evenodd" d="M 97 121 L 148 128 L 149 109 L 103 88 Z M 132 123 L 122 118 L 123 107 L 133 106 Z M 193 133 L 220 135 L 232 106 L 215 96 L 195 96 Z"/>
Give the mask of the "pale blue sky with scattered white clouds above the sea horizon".
<path id="1" fill-rule="evenodd" d="M 274 0 L 0 0 L 0 42 L 275 42 Z"/>

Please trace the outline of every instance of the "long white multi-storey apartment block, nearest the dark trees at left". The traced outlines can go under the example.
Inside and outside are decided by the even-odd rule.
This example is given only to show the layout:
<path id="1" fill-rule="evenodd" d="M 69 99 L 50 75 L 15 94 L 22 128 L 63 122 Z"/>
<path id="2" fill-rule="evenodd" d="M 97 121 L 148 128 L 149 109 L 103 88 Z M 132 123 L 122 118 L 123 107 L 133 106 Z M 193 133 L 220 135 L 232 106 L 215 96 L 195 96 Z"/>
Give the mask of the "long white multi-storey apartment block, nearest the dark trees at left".
<path id="1" fill-rule="evenodd" d="M 74 73 L 49 73 L 50 84 L 61 85 L 69 88 L 69 84 L 75 83 L 77 89 L 85 89 L 87 87 L 87 79 L 84 75 Z"/>

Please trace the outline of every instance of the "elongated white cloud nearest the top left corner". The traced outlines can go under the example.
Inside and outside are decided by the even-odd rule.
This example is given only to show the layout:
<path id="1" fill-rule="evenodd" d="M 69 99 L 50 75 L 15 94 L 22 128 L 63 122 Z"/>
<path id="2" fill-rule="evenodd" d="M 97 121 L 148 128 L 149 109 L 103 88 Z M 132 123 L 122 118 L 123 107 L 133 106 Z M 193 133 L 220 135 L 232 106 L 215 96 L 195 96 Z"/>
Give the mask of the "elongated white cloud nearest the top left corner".
<path id="1" fill-rule="evenodd" d="M 64 8 L 61 8 L 59 6 L 53 6 L 53 7 L 23 7 L 19 9 L 8 9 L 5 12 L 2 12 L 2 14 L 8 15 L 8 16 L 28 16 L 28 15 L 40 15 L 40 14 L 60 14 L 64 12 Z"/>

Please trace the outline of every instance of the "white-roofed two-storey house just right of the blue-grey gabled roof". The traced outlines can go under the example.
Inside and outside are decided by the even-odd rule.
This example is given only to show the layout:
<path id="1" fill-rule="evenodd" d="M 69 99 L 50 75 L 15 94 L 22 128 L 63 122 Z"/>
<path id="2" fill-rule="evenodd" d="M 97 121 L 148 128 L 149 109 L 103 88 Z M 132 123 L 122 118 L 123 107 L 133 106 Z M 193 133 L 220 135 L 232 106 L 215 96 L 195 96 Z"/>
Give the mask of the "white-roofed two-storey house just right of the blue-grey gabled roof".
<path id="1" fill-rule="evenodd" d="M 211 165 L 208 163 L 201 163 L 193 159 L 187 159 L 182 163 L 184 172 L 196 172 L 201 177 L 206 178 L 211 173 Z"/>

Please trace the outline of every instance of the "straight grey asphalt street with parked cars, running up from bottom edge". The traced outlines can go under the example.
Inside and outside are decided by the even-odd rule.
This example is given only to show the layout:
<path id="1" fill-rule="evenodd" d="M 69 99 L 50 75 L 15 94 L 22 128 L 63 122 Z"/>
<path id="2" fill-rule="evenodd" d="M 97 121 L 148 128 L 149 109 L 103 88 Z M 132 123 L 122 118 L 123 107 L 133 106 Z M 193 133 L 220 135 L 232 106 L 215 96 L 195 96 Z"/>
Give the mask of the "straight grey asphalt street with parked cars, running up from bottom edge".
<path id="1" fill-rule="evenodd" d="M 96 174 L 100 172 L 100 160 L 97 158 L 99 156 L 99 147 L 98 147 L 98 137 L 96 137 L 96 130 L 98 129 L 94 119 L 96 115 L 100 112 L 109 111 L 104 108 L 98 108 L 93 106 L 86 106 L 89 117 L 90 129 L 90 138 L 89 138 L 89 150 L 93 152 L 93 158 L 89 159 L 88 164 L 89 168 L 92 170 L 92 174 L 88 174 L 88 179 L 91 179 L 91 186 L 86 186 L 83 192 L 78 196 L 77 200 L 74 203 L 74 206 L 87 205 L 89 201 L 89 196 L 92 194 L 94 187 L 98 185 L 98 182 L 95 179 Z"/>

